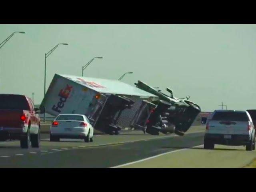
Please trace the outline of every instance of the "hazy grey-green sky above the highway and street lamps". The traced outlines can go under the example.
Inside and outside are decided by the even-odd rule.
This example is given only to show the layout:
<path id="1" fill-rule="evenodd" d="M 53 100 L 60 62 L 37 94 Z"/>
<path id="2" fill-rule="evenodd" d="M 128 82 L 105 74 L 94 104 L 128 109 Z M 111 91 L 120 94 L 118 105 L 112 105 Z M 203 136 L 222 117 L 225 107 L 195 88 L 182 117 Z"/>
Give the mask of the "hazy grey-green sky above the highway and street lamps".
<path id="1" fill-rule="evenodd" d="M 142 80 L 166 87 L 203 111 L 255 109 L 256 25 L 224 24 L 0 24 L 0 92 L 26 94 L 40 104 L 55 73 L 118 79 L 133 86 Z"/>

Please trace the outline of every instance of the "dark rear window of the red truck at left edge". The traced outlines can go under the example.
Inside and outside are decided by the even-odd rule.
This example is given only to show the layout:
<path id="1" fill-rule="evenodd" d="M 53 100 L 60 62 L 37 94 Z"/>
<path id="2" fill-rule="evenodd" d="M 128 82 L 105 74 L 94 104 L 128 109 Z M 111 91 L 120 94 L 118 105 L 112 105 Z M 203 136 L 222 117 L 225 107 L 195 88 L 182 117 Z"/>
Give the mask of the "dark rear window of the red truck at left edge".
<path id="1" fill-rule="evenodd" d="M 0 94 L 0 109 L 30 110 L 25 96 L 8 94 Z"/>

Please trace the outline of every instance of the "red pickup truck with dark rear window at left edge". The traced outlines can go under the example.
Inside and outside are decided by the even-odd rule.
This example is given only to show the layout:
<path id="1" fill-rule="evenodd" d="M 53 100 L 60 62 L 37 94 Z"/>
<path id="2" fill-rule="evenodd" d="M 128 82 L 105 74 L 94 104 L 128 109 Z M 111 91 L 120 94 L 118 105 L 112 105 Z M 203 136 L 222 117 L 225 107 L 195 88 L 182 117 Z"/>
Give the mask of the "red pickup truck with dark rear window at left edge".
<path id="1" fill-rule="evenodd" d="M 44 109 L 34 108 L 24 95 L 0 94 L 0 141 L 20 140 L 21 148 L 40 146 L 40 118 Z"/>

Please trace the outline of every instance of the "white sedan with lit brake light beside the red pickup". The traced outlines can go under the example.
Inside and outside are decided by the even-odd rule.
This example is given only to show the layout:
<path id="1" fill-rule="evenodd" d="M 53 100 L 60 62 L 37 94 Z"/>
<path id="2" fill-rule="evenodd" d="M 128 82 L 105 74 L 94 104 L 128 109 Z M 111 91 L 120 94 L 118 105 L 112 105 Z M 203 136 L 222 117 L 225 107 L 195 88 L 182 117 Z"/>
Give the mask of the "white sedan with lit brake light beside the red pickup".
<path id="1" fill-rule="evenodd" d="M 60 141 L 60 138 L 84 139 L 93 142 L 94 128 L 85 115 L 59 114 L 50 126 L 50 141 Z"/>

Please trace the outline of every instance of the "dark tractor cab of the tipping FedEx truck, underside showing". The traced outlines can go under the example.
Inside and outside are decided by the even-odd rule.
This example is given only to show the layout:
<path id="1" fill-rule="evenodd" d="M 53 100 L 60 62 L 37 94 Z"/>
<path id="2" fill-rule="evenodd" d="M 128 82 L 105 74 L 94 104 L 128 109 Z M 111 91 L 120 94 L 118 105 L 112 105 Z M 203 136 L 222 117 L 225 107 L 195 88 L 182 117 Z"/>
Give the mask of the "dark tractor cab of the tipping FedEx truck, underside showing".
<path id="1" fill-rule="evenodd" d="M 149 134 L 158 135 L 175 132 L 183 136 L 190 128 L 196 116 L 201 112 L 200 106 L 190 100 L 175 98 L 171 89 L 166 88 L 170 96 L 155 90 L 142 81 L 135 83 L 137 88 L 158 96 L 159 100 L 152 102 L 153 109 L 141 120 L 142 130 Z M 143 119 L 143 118 L 142 118 Z"/>

